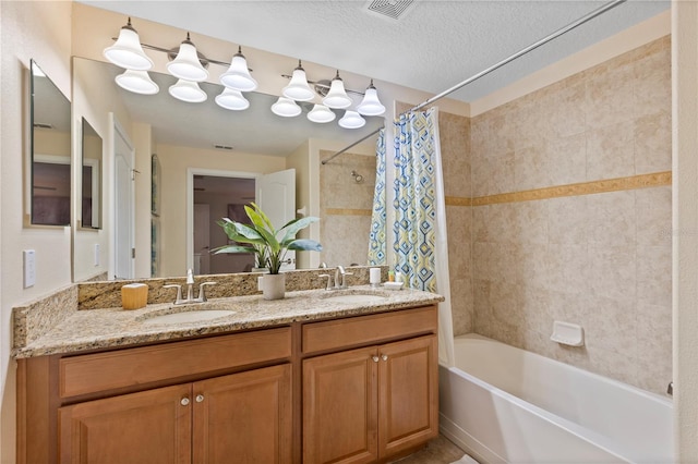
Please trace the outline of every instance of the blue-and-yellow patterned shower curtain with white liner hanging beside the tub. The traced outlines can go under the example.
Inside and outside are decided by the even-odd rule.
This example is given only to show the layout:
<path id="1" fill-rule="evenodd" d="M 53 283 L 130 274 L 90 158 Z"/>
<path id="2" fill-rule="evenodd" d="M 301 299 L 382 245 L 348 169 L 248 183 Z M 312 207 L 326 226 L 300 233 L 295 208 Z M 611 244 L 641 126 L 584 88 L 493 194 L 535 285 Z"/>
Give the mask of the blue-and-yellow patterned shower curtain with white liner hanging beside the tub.
<path id="1" fill-rule="evenodd" d="M 446 206 L 438 109 L 409 111 L 395 121 L 396 271 L 412 289 L 444 295 L 438 305 L 438 361 L 454 365 Z"/>

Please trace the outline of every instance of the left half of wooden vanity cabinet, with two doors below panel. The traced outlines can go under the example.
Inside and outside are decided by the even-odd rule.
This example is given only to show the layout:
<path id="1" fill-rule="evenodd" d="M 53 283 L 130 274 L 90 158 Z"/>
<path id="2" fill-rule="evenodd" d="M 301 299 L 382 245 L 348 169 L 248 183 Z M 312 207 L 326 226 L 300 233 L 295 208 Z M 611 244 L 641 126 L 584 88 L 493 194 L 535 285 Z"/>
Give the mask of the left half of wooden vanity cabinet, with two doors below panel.
<path id="1" fill-rule="evenodd" d="M 289 463 L 291 328 L 19 363 L 20 464 Z"/>

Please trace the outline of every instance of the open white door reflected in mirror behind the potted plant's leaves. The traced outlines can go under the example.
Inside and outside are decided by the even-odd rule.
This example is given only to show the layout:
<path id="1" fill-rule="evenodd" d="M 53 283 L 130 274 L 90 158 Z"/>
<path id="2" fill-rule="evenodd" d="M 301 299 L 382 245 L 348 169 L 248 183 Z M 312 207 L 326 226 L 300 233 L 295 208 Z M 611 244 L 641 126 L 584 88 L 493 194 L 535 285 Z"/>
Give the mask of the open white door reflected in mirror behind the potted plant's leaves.
<path id="1" fill-rule="evenodd" d="M 273 172 L 257 178 L 256 204 L 268 216 L 274 229 L 296 218 L 296 170 Z M 279 237 L 280 239 L 280 237 Z M 296 269 L 296 252 L 288 252 L 281 270 Z"/>

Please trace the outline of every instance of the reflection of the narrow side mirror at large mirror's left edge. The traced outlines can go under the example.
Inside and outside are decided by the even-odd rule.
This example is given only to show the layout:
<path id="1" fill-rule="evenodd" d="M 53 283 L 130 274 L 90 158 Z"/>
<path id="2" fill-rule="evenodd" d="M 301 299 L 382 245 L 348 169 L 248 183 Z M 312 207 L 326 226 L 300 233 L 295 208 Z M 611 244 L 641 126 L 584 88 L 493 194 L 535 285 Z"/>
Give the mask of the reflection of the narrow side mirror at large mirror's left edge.
<path id="1" fill-rule="evenodd" d="M 101 228 L 101 137 L 83 118 L 81 225 Z"/>

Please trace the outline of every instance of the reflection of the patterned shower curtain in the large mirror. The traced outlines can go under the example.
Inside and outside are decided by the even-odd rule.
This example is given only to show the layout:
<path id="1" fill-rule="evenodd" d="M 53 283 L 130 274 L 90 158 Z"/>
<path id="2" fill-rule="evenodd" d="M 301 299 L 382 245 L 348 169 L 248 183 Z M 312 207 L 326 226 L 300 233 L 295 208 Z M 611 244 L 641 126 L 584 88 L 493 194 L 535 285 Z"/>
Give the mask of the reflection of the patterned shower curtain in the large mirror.
<path id="1" fill-rule="evenodd" d="M 375 192 L 369 234 L 369 266 L 386 264 L 385 228 L 385 129 L 382 129 L 375 144 Z"/>

